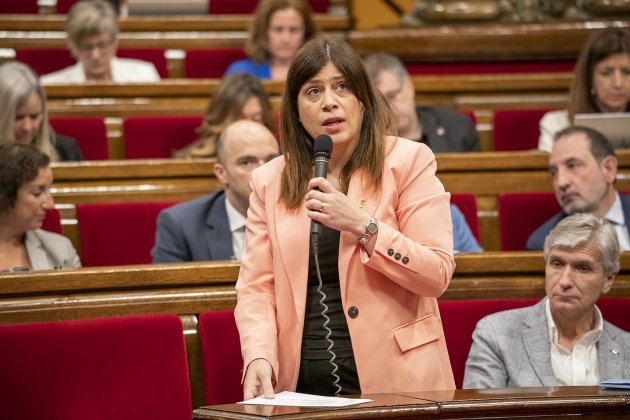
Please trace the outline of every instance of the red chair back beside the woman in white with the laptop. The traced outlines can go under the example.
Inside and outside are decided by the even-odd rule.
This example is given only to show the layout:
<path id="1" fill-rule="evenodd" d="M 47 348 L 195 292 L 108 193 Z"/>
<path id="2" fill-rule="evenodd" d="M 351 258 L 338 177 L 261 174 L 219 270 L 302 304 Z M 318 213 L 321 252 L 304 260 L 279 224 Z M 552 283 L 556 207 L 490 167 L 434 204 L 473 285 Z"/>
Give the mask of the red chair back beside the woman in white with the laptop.
<path id="1" fill-rule="evenodd" d="M 539 122 L 548 109 L 506 109 L 494 112 L 494 150 L 538 148 Z"/>

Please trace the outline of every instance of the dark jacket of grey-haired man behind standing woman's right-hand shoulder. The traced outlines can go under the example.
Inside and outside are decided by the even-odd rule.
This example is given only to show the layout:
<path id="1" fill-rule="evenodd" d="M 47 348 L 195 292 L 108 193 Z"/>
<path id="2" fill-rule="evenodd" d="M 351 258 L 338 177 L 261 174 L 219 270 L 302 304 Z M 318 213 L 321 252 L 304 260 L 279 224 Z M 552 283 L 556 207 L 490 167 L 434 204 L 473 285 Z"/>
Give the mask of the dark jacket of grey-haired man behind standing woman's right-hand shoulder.
<path id="1" fill-rule="evenodd" d="M 420 141 L 429 146 L 433 153 L 481 150 L 477 130 L 467 115 L 427 106 L 417 106 L 416 113 L 422 124 Z"/>

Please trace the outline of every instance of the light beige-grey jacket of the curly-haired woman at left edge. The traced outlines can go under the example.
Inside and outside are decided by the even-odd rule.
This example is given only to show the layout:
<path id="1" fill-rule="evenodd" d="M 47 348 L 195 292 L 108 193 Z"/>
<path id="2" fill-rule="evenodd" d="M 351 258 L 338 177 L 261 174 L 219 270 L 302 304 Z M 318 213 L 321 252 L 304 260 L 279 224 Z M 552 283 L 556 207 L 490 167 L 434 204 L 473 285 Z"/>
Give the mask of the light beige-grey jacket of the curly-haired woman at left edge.
<path id="1" fill-rule="evenodd" d="M 24 244 L 33 270 L 81 267 L 76 249 L 63 235 L 42 229 L 29 230 Z"/>

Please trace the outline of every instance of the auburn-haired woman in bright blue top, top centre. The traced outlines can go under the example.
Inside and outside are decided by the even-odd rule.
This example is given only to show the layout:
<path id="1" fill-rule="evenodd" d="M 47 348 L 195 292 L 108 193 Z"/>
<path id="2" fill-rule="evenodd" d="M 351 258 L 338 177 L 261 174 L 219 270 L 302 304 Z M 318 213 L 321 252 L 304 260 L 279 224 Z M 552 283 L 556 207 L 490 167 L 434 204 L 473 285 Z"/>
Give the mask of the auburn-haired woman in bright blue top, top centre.
<path id="1" fill-rule="evenodd" d="M 245 52 L 225 74 L 245 72 L 260 79 L 284 80 L 298 49 L 316 34 L 311 6 L 306 0 L 262 0 L 254 19 Z"/>

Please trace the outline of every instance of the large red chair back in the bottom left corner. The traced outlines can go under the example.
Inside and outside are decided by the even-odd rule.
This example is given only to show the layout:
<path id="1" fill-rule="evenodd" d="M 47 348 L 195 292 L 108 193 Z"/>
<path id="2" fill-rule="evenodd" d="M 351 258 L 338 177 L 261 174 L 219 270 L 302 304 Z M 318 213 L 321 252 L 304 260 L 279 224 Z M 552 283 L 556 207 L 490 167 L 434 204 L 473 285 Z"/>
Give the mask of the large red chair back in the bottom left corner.
<path id="1" fill-rule="evenodd" d="M 177 315 L 3 325 L 0 372 L 5 419 L 191 418 Z"/>

